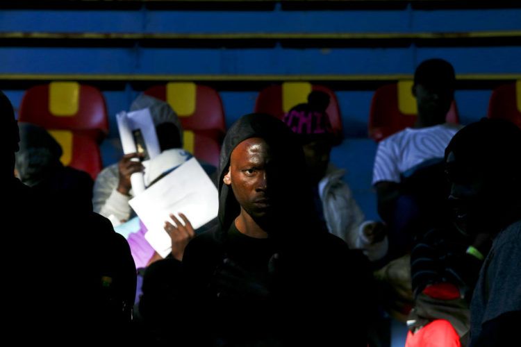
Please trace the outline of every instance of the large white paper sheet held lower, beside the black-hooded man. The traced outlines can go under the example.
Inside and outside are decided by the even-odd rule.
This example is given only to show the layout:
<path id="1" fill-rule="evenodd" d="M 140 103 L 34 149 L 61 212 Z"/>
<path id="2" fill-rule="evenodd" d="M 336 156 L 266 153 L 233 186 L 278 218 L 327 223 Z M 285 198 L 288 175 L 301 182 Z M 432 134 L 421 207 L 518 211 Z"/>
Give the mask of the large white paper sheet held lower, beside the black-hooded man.
<path id="1" fill-rule="evenodd" d="M 172 251 L 172 242 L 163 228 L 165 221 L 174 224 L 170 213 L 180 221 L 179 212 L 185 214 L 197 229 L 217 217 L 219 208 L 217 188 L 195 158 L 181 164 L 129 203 L 148 229 L 145 239 L 162 257 Z"/>

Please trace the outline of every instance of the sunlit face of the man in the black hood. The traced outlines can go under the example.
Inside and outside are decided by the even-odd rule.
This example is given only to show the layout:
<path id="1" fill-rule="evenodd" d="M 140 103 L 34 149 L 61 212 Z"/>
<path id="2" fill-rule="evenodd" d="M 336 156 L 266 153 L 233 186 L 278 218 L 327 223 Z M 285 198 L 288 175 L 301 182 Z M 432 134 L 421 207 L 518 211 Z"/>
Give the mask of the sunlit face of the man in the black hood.
<path id="1" fill-rule="evenodd" d="M 230 168 L 224 176 L 224 184 L 231 185 L 233 194 L 254 220 L 273 212 L 274 184 L 279 181 L 275 172 L 270 146 L 261 138 L 245 139 L 233 149 Z"/>

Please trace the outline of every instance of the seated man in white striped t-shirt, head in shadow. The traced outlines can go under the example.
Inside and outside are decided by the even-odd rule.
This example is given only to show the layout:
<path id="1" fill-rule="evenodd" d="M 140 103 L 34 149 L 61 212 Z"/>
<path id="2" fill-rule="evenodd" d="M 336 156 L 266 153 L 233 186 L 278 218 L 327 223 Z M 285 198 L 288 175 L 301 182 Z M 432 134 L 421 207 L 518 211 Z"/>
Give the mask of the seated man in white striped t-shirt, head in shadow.
<path id="1" fill-rule="evenodd" d="M 417 102 L 415 128 L 406 128 L 379 143 L 372 184 L 378 212 L 388 228 L 388 259 L 410 251 L 413 237 L 438 214 L 438 187 L 443 183 L 443 153 L 458 126 L 445 123 L 454 99 L 454 68 L 442 59 L 422 62 L 414 74 Z M 435 164 L 434 166 L 430 166 Z M 434 199 L 427 198 L 433 195 Z M 436 201 L 436 203 L 434 203 Z"/>

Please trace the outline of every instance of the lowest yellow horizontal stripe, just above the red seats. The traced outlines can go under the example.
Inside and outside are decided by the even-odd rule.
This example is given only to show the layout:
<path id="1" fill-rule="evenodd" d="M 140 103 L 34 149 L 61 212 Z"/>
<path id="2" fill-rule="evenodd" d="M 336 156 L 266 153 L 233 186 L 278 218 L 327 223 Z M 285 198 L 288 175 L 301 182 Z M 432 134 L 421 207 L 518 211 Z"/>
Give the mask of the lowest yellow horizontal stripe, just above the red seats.
<path id="1" fill-rule="evenodd" d="M 165 75 L 165 74 L 0 74 L 0 81 L 106 81 L 106 82 L 286 82 L 286 81 L 338 81 L 338 82 L 386 82 L 412 80 L 413 74 L 382 75 Z M 521 74 L 458 74 L 458 81 L 516 81 Z"/>

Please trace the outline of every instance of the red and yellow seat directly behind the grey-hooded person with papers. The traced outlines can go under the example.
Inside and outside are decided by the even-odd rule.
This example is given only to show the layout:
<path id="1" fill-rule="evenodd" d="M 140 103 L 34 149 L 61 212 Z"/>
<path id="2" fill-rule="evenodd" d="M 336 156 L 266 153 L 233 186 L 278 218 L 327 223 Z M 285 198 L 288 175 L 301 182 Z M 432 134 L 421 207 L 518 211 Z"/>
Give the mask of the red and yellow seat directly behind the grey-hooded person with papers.
<path id="1" fill-rule="evenodd" d="M 167 83 L 150 87 L 144 94 L 167 101 L 185 131 L 184 148 L 197 158 L 218 166 L 226 124 L 217 91 L 195 83 Z"/>

